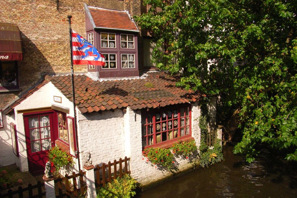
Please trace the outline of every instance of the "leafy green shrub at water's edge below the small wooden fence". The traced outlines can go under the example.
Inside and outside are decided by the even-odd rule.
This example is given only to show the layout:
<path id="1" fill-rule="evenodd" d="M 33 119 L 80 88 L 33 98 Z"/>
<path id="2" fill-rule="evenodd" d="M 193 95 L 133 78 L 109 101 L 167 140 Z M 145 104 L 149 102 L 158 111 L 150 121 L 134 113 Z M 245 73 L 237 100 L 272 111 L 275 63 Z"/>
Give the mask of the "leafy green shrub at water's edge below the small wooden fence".
<path id="1" fill-rule="evenodd" d="M 208 167 L 212 164 L 224 160 L 222 153 L 222 145 L 216 143 L 213 148 L 208 148 L 206 152 L 200 153 L 199 164 L 202 167 Z"/>

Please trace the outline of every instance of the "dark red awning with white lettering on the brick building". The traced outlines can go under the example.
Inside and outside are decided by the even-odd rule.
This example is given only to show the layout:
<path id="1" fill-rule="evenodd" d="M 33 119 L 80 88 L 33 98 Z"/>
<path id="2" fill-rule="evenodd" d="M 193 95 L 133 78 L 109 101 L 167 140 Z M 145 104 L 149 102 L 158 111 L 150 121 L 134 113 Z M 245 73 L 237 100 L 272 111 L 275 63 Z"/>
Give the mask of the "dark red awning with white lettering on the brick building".
<path id="1" fill-rule="evenodd" d="M 0 23 L 0 60 L 23 60 L 21 33 L 16 25 Z"/>

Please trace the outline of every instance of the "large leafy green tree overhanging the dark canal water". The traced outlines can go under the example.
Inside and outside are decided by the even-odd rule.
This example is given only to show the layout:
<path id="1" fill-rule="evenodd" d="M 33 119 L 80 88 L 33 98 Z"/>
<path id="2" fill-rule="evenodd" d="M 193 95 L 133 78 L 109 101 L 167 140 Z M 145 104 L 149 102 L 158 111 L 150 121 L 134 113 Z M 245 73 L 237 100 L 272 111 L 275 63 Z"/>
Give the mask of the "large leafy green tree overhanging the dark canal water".
<path id="1" fill-rule="evenodd" d="M 239 108 L 235 153 L 254 160 L 265 142 L 297 161 L 297 1 L 144 0 L 136 18 L 157 43 L 153 60 L 179 86 Z M 209 27 L 207 31 L 205 26 Z M 159 50 L 164 46 L 164 51 Z M 216 60 L 209 64 L 209 59 Z M 161 60 L 161 61 L 160 61 Z"/>

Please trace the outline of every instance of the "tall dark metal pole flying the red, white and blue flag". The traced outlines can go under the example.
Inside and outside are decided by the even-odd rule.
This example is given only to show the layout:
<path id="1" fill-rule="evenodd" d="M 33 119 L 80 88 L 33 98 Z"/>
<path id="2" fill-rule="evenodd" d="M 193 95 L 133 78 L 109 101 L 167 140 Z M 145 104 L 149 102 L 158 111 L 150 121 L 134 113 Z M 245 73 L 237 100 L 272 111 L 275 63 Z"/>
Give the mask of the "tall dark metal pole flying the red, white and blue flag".
<path id="1" fill-rule="evenodd" d="M 67 16 L 69 22 L 69 36 L 70 36 L 70 55 L 71 55 L 71 85 L 72 85 L 72 96 L 73 96 L 73 110 L 74 110 L 74 127 L 75 127 L 75 139 L 76 139 L 76 149 L 78 158 L 78 170 L 80 171 L 80 151 L 78 148 L 78 136 L 77 136 L 77 123 L 76 123 L 76 110 L 75 110 L 75 92 L 74 92 L 74 72 L 73 72 L 73 56 L 72 56 L 72 35 L 71 35 L 71 18 L 72 16 Z"/>

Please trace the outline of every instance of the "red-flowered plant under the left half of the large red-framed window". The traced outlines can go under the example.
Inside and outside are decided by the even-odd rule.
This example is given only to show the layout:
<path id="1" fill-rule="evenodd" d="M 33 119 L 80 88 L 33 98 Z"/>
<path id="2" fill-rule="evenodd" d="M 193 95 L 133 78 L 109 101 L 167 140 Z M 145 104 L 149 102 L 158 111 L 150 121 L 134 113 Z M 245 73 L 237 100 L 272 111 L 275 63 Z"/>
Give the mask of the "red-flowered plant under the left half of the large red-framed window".
<path id="1" fill-rule="evenodd" d="M 143 153 L 148 152 L 145 156 L 147 161 L 151 161 L 154 165 L 164 166 L 171 169 L 174 163 L 174 156 L 170 149 L 149 148 L 145 149 Z"/>

